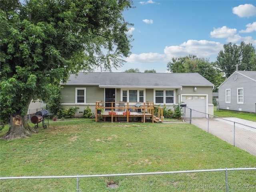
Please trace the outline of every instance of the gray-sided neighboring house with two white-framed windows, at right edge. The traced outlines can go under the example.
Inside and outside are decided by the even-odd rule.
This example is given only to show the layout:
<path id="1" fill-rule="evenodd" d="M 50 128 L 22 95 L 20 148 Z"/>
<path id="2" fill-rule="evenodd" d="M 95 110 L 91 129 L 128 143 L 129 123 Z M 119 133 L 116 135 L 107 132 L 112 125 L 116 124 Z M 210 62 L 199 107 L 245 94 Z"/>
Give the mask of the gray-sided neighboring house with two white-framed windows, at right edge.
<path id="1" fill-rule="evenodd" d="M 218 88 L 219 109 L 256 112 L 256 71 L 235 71 Z"/>

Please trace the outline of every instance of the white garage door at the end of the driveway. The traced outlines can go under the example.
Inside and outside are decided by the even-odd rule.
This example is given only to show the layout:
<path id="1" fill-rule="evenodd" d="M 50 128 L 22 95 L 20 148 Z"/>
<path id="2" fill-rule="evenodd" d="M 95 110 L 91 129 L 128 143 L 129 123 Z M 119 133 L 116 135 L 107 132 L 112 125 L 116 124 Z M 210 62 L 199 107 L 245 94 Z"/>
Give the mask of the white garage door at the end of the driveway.
<path id="1" fill-rule="evenodd" d="M 182 102 L 193 109 L 192 117 L 206 117 L 206 96 L 182 96 Z M 186 109 L 187 115 L 190 115 L 188 109 Z"/>

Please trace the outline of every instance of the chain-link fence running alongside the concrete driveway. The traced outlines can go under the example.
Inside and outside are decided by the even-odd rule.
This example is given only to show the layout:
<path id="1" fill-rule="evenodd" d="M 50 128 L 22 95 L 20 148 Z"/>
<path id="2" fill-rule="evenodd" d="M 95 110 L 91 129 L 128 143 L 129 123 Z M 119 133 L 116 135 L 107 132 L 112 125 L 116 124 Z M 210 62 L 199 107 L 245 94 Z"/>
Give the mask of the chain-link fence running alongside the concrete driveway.
<path id="1" fill-rule="evenodd" d="M 255 126 L 226 120 L 185 108 L 185 120 L 218 138 L 256 156 L 256 122 Z M 193 118 L 193 113 L 202 113 L 207 118 Z"/>

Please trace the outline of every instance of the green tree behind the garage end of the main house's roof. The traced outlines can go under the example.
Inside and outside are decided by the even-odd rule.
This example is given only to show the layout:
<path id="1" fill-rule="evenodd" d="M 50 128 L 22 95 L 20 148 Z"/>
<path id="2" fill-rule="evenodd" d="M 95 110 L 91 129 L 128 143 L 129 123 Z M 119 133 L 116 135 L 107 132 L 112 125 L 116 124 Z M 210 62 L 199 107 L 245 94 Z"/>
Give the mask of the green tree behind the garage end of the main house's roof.
<path id="1" fill-rule="evenodd" d="M 217 92 L 218 86 L 224 81 L 223 73 L 216 67 L 216 63 L 195 55 L 172 58 L 172 62 L 167 64 L 167 70 L 173 73 L 199 73 L 214 84 L 214 92 Z"/>

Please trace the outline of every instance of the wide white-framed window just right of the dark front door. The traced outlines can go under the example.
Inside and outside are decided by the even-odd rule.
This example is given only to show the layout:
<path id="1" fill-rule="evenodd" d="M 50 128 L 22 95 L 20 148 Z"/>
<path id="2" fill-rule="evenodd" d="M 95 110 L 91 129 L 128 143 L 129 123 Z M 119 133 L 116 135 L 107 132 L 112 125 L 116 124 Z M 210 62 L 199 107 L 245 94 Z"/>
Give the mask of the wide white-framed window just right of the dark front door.
<path id="1" fill-rule="evenodd" d="M 144 90 L 122 90 L 121 98 L 124 102 L 144 102 Z"/>

